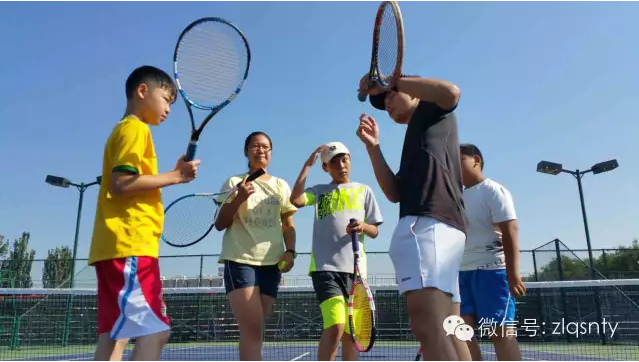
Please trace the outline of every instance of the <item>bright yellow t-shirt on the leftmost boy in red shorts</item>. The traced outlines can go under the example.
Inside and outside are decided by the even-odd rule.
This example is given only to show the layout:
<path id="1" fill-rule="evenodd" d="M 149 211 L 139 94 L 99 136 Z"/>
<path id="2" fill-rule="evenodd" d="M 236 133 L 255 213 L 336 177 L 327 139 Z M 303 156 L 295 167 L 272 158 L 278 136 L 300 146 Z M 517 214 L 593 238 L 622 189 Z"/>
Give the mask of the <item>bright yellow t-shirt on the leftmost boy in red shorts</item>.
<path id="1" fill-rule="evenodd" d="M 129 256 L 157 258 L 164 223 L 160 189 L 122 196 L 110 192 L 113 171 L 158 174 L 149 126 L 134 116 L 122 119 L 106 142 L 102 162 L 89 264 Z"/>

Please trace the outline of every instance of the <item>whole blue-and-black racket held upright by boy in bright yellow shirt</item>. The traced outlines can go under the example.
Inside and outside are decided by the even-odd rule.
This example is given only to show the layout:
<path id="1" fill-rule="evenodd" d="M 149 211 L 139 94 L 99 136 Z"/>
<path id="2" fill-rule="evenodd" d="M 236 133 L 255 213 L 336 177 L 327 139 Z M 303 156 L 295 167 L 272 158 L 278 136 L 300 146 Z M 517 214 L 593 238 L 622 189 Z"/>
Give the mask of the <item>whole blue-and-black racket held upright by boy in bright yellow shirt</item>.
<path id="1" fill-rule="evenodd" d="M 195 157 L 206 124 L 240 93 L 250 65 L 248 40 L 224 19 L 202 18 L 182 31 L 173 53 L 173 73 L 191 118 L 185 161 Z M 209 111 L 198 128 L 193 108 Z"/>

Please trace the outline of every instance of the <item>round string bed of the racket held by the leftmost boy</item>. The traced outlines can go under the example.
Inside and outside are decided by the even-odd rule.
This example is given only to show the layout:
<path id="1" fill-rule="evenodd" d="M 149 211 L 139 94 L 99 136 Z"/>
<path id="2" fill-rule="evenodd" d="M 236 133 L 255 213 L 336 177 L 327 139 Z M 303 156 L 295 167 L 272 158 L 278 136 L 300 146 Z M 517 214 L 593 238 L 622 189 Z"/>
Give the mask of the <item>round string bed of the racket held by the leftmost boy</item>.
<path id="1" fill-rule="evenodd" d="M 248 45 L 232 27 L 207 21 L 189 30 L 178 46 L 178 79 L 194 103 L 214 107 L 235 94 L 248 66 Z"/>

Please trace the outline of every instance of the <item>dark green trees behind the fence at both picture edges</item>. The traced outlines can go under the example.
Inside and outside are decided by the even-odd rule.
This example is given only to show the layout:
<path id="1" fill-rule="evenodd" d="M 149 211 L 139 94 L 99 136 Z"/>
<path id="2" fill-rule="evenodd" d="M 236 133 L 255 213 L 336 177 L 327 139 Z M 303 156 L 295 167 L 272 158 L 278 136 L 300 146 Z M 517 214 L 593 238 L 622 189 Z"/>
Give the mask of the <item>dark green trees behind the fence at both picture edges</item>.
<path id="1" fill-rule="evenodd" d="M 35 250 L 29 249 L 30 234 L 22 235 L 10 243 L 0 234 L 0 288 L 32 288 L 32 267 Z M 539 255 L 541 253 L 537 253 Z M 549 254 L 545 252 L 544 254 Z M 42 268 L 44 288 L 64 288 L 69 286 L 73 254 L 69 246 L 58 246 L 47 252 Z M 608 249 L 595 257 L 598 278 L 609 279 L 639 277 L 639 241 L 634 239 L 630 246 Z M 560 273 L 561 270 L 561 273 Z M 560 257 L 539 265 L 537 275 L 524 278 L 525 281 L 583 280 L 590 278 L 588 259 L 582 260 L 569 250 L 560 250 Z"/>

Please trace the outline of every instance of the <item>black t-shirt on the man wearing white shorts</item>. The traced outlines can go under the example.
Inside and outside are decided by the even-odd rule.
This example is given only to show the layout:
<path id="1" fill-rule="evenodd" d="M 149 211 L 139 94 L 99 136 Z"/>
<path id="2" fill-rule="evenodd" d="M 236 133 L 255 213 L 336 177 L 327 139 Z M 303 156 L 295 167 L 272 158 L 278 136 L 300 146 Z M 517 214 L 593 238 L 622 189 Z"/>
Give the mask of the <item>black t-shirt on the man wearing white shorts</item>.
<path id="1" fill-rule="evenodd" d="M 408 123 L 396 175 L 399 217 L 430 216 L 465 233 L 459 136 L 453 110 L 420 101 Z"/>

